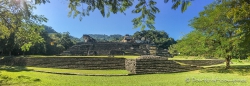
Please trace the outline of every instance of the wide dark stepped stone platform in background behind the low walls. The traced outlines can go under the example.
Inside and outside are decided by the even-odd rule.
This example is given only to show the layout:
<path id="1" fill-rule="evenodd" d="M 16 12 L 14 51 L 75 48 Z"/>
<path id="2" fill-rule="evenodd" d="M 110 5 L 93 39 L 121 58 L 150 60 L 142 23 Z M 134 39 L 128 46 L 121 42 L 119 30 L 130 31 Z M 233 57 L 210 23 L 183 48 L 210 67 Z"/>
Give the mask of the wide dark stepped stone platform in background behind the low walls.
<path id="1" fill-rule="evenodd" d="M 149 51 L 146 44 L 95 42 L 95 43 L 78 43 L 62 53 L 62 55 L 80 55 L 80 56 L 125 55 L 125 54 L 148 55 Z"/>

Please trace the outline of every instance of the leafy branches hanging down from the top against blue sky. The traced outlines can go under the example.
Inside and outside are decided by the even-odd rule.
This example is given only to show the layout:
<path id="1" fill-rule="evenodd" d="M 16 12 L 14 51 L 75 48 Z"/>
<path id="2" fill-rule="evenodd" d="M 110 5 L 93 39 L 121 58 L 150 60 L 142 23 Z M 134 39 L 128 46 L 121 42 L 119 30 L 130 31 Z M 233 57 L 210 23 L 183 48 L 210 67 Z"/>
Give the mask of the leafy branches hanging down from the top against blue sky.
<path id="1" fill-rule="evenodd" d="M 49 3 L 50 0 L 33 0 L 35 4 Z M 162 0 L 167 3 L 169 0 Z M 181 11 L 184 12 L 189 5 L 191 5 L 193 0 L 172 0 L 172 9 L 177 9 L 181 5 Z M 141 14 L 139 17 L 132 20 L 134 28 L 141 28 L 144 30 L 146 27 L 150 29 L 155 29 L 154 21 L 155 14 L 159 13 L 160 10 L 155 6 L 157 4 L 156 0 L 69 0 L 68 7 L 70 9 L 68 16 L 73 18 L 79 16 L 88 16 L 90 12 L 94 10 L 99 10 L 103 17 L 109 17 L 110 13 L 116 14 L 118 12 L 126 15 L 125 11 L 133 6 L 135 3 L 135 9 L 132 13 Z M 83 8 L 86 5 L 87 8 Z"/>

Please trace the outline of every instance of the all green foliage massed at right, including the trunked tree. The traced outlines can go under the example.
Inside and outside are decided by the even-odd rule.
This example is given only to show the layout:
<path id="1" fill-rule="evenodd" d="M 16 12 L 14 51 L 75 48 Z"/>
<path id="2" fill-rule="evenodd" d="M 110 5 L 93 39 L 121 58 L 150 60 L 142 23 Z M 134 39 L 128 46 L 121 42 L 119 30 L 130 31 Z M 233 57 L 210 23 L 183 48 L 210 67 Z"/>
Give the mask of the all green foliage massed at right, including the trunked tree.
<path id="1" fill-rule="evenodd" d="M 242 28 L 249 27 L 249 20 L 235 22 L 237 18 L 228 17 L 233 2 L 225 0 L 206 6 L 199 17 L 190 21 L 195 30 L 172 46 L 172 52 L 178 50 L 183 55 L 226 58 L 227 68 L 232 58 L 246 57 L 250 50 L 249 43 L 246 43 L 249 41 L 248 31 Z"/>

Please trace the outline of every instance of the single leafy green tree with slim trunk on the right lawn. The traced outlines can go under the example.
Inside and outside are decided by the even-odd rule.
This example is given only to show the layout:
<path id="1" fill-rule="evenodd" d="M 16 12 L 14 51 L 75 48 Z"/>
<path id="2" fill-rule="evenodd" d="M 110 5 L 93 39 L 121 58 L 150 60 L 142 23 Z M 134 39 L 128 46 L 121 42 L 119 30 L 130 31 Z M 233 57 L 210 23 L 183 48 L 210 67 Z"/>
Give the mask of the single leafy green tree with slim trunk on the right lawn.
<path id="1" fill-rule="evenodd" d="M 225 58 L 226 69 L 230 67 L 230 60 L 233 57 L 246 54 L 242 53 L 246 48 L 240 45 L 243 40 L 237 33 L 238 23 L 226 16 L 227 12 L 230 11 L 230 4 L 231 2 L 210 4 L 190 24 L 196 30 L 206 34 L 209 38 L 206 44 L 210 50 L 208 53 Z"/>

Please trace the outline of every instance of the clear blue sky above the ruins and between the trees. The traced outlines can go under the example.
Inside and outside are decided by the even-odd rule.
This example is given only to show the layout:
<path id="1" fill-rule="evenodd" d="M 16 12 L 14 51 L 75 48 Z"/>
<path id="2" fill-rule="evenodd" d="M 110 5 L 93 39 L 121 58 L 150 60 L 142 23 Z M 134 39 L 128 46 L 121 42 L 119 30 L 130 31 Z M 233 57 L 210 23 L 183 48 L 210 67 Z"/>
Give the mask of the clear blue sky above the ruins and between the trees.
<path id="1" fill-rule="evenodd" d="M 168 3 L 164 3 L 164 0 L 157 1 L 156 6 L 160 9 L 160 13 L 156 14 L 156 30 L 163 30 L 170 37 L 181 39 L 184 34 L 193 30 L 188 26 L 189 21 L 198 16 L 199 12 L 204 10 L 204 6 L 214 0 L 194 0 L 184 13 L 181 13 L 180 7 L 177 10 L 171 9 L 171 0 Z M 85 16 L 80 21 L 78 17 L 68 17 L 67 0 L 50 0 L 50 3 L 37 5 L 34 14 L 47 17 L 49 20 L 44 24 L 51 26 L 57 32 L 68 31 L 70 35 L 80 38 L 83 34 L 132 35 L 134 32 L 140 31 L 140 28 L 133 28 L 131 21 L 139 15 L 133 14 L 132 9 L 134 7 L 127 9 L 126 15 L 111 14 L 109 18 L 102 17 L 99 10 L 96 9 L 94 12 L 90 12 L 90 16 Z"/>

